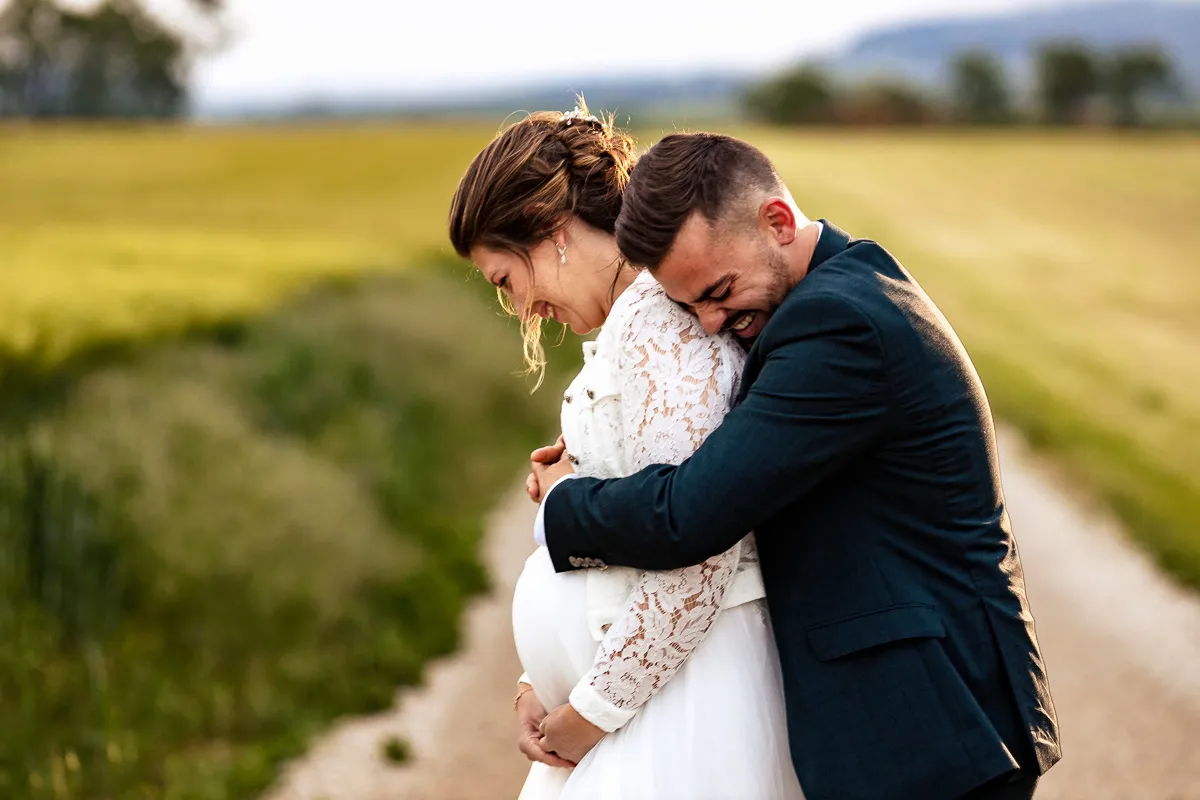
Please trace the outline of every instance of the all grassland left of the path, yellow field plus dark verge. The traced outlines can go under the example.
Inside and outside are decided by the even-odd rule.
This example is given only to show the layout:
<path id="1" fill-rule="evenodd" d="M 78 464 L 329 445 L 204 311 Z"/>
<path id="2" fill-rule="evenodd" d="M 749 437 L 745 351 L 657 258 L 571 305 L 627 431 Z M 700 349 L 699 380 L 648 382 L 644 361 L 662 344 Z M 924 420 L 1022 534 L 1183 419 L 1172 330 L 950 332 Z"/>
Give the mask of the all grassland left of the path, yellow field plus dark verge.
<path id="1" fill-rule="evenodd" d="M 0 131 L 0 796 L 256 796 L 455 648 L 554 422 L 434 252 L 476 142 Z"/>

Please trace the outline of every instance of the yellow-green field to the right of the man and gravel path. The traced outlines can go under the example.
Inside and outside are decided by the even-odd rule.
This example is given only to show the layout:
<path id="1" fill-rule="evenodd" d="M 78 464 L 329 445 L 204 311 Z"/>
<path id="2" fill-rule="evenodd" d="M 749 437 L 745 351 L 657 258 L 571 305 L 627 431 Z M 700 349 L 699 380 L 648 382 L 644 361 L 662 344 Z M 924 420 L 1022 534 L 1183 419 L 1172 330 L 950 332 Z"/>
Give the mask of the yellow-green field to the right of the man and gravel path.
<path id="1" fill-rule="evenodd" d="M 1200 587 L 1200 138 L 750 137 L 892 249 L 996 413 Z"/>

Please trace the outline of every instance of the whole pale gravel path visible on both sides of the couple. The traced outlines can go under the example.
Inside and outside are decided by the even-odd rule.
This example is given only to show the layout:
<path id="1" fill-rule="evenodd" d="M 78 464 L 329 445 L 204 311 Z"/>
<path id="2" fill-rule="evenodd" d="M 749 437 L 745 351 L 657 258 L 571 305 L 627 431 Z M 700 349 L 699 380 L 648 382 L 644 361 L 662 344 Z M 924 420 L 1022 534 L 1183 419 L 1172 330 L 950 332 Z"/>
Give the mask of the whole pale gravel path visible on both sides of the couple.
<path id="1" fill-rule="evenodd" d="M 1162 578 L 1009 432 L 1001 457 L 1063 730 L 1066 757 L 1039 800 L 1200 800 L 1200 597 Z M 532 518 L 520 492 L 492 517 L 497 589 L 472 608 L 463 650 L 397 710 L 334 728 L 266 800 L 516 796 L 524 765 L 512 745 L 509 600 Z M 413 744 L 410 765 L 379 757 L 391 735 Z"/>

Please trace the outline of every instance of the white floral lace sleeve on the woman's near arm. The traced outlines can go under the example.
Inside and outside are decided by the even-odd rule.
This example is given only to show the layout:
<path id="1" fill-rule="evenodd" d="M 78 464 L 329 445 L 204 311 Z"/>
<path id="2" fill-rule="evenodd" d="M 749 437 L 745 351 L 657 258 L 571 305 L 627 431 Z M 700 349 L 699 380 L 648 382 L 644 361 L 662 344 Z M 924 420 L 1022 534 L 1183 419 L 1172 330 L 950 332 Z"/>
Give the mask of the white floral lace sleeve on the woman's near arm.
<path id="1" fill-rule="evenodd" d="M 686 459 L 721 422 L 739 363 L 730 343 L 664 295 L 622 332 L 618 360 L 624 468 Z M 738 564 L 739 547 L 684 570 L 646 572 L 605 634 L 571 705 L 612 732 L 628 722 L 704 638 Z"/>

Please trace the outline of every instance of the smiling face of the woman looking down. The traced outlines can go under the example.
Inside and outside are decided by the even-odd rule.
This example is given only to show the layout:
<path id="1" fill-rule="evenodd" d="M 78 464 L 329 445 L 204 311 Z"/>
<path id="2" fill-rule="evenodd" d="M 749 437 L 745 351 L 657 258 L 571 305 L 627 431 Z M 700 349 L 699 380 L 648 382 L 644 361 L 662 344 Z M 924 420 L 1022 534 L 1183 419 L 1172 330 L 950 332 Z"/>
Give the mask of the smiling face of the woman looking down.
<path id="1" fill-rule="evenodd" d="M 530 249 L 527 261 L 517 253 L 482 245 L 470 251 L 475 269 L 504 290 L 522 320 L 534 315 L 552 319 L 578 335 L 604 324 L 611 266 L 588 269 L 581 263 L 587 259 L 574 257 L 562 264 L 552 240 Z"/>

